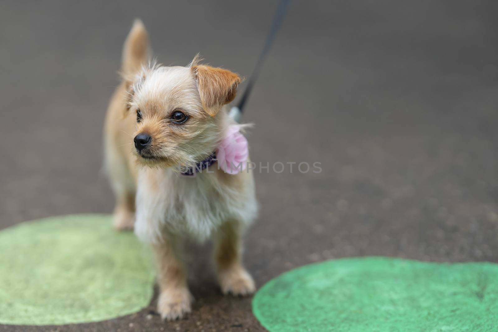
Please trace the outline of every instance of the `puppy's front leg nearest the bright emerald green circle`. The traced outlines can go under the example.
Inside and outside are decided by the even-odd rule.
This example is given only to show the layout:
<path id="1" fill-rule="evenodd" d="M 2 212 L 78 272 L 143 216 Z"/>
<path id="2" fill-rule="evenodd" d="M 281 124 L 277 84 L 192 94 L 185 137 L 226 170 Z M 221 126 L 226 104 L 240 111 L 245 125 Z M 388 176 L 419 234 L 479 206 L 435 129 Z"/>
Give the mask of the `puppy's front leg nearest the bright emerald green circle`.
<path id="1" fill-rule="evenodd" d="M 224 294 L 254 293 L 254 281 L 242 264 L 242 234 L 239 222 L 227 221 L 218 230 L 215 238 L 215 259 L 218 279 Z"/>

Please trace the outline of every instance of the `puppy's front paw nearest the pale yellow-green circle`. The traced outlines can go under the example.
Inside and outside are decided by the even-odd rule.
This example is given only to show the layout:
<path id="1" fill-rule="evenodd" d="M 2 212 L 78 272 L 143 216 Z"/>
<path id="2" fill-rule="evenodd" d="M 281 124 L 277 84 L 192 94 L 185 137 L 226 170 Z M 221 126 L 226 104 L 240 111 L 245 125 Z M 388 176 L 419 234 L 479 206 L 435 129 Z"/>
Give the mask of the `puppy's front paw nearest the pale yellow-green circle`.
<path id="1" fill-rule="evenodd" d="M 187 288 L 163 290 L 157 301 L 157 311 L 163 320 L 182 319 L 190 313 L 192 295 Z"/>

